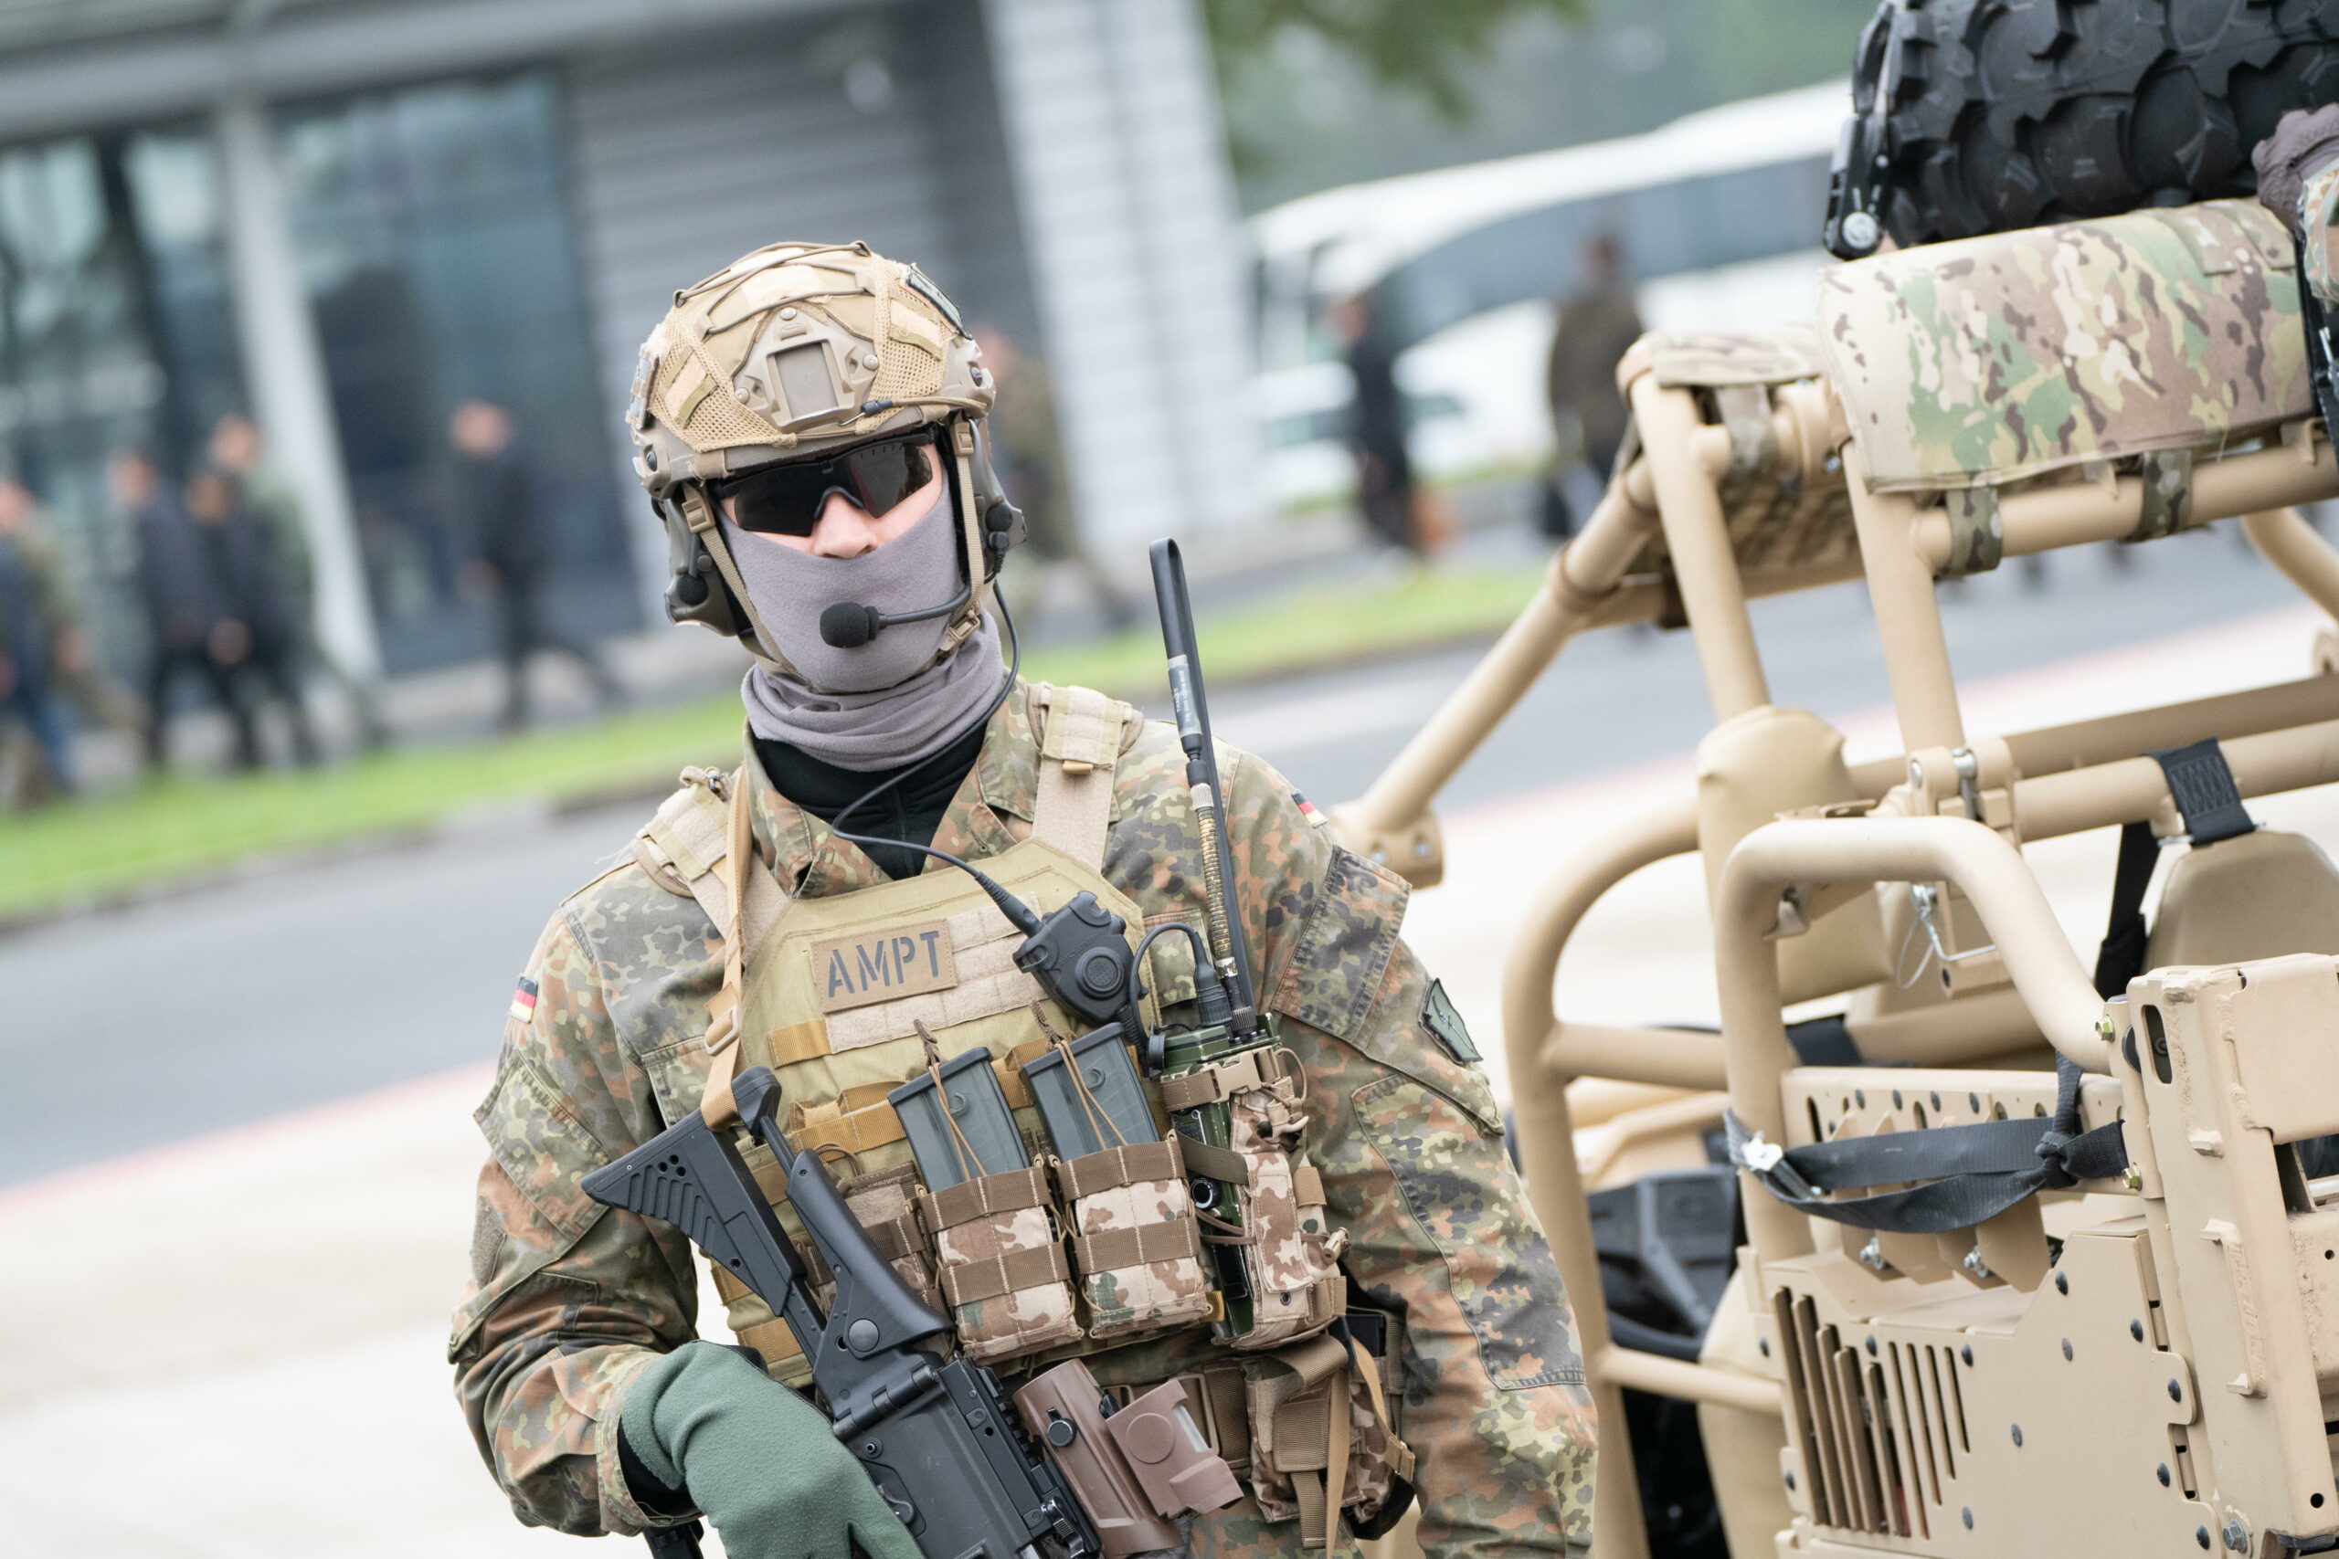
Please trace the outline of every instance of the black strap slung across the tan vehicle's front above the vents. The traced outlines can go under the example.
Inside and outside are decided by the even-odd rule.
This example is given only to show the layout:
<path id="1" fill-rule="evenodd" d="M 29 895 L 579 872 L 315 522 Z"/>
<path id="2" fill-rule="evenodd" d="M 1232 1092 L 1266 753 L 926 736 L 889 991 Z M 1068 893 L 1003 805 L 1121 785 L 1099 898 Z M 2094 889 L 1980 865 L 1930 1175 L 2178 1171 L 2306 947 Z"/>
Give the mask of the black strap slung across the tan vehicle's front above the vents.
<path id="1" fill-rule="evenodd" d="M 1845 1136 L 1806 1148 L 1780 1148 L 1724 1115 L 1731 1162 L 1761 1180 L 1787 1206 L 1885 1234 L 1948 1234 L 1986 1222 L 2040 1190 L 2103 1180 L 2128 1166 L 2119 1124 L 2079 1131 L 2079 1068 L 2056 1061 L 2054 1120 L 1988 1120 L 1974 1127 L 1930 1127 Z M 2044 1127 L 2044 1131 L 2042 1131 Z M 1831 1201 L 1820 1192 L 1904 1185 Z"/>

